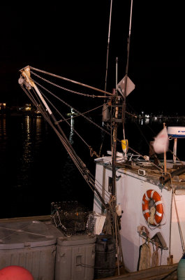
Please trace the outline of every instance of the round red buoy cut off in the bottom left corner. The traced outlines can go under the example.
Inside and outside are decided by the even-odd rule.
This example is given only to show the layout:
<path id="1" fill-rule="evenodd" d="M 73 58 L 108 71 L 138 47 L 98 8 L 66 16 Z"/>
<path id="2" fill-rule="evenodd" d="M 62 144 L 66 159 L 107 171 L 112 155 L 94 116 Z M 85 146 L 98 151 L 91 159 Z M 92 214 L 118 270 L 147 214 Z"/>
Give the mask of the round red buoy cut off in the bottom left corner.
<path id="1" fill-rule="evenodd" d="M 0 280 L 34 280 L 34 277 L 24 267 L 10 265 L 0 269 Z"/>

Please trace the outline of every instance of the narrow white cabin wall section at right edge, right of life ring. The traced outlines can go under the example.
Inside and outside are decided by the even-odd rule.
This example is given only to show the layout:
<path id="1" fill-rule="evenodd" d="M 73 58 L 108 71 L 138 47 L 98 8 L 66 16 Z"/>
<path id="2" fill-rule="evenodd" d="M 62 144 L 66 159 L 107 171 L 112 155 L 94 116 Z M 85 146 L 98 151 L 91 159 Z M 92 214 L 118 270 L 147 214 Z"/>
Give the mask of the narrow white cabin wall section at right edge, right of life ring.
<path id="1" fill-rule="evenodd" d="M 177 205 L 177 212 L 175 210 L 175 202 Z M 183 240 L 185 242 L 185 195 L 175 195 L 175 202 L 172 200 L 171 254 L 173 255 L 173 262 L 179 262 L 183 254 L 182 241 L 179 234 L 179 225 L 182 230 Z M 179 225 L 177 214 L 179 217 Z"/>

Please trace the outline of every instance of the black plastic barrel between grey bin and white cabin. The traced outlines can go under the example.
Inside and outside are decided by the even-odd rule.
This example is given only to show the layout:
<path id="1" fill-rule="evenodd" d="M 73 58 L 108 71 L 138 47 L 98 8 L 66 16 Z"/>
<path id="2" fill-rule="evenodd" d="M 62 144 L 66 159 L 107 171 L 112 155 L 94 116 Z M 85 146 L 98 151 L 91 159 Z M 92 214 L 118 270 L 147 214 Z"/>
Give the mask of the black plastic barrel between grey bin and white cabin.
<path id="1" fill-rule="evenodd" d="M 113 276 L 115 273 L 116 246 L 112 235 L 98 235 L 95 244 L 94 278 Z"/>

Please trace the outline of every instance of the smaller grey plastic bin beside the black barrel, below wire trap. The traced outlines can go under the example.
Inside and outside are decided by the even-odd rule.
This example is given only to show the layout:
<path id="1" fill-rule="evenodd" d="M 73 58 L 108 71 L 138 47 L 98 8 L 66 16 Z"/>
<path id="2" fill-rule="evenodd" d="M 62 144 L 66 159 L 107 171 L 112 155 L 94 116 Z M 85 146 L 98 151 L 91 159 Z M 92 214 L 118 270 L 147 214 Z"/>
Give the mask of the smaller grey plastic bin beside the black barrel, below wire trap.
<path id="1" fill-rule="evenodd" d="M 54 280 L 94 279 L 94 235 L 73 235 L 57 238 Z"/>

